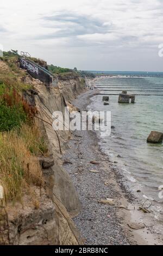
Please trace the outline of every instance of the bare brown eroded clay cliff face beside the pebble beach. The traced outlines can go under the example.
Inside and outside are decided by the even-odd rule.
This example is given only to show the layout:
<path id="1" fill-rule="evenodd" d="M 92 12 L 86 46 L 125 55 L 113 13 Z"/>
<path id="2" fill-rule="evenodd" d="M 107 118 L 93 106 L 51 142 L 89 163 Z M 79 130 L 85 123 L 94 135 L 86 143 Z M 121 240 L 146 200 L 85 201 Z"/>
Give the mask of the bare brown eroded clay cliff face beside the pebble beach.
<path id="1" fill-rule="evenodd" d="M 38 110 L 37 122 L 48 143 L 48 156 L 39 159 L 45 187 L 34 188 L 38 205 L 29 202 L 8 204 L 0 215 L 0 244 L 11 245 L 78 245 L 79 233 L 72 217 L 80 211 L 78 194 L 68 173 L 62 167 L 61 154 L 67 149 L 70 131 L 54 131 L 52 114 L 84 90 L 76 75 L 59 77 L 58 87 L 47 88 L 42 82 L 26 78 L 34 89 L 24 94 Z M 26 81 L 27 82 L 27 81 Z"/>

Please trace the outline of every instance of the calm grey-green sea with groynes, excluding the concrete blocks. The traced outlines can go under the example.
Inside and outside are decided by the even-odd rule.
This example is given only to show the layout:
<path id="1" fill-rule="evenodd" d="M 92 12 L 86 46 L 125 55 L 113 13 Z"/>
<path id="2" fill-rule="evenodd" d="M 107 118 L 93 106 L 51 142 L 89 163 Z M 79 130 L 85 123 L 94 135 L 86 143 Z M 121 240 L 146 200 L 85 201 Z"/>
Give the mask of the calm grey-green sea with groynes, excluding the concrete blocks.
<path id="1" fill-rule="evenodd" d="M 111 111 L 111 136 L 102 137 L 103 150 L 121 163 L 133 190 L 160 201 L 158 187 L 163 185 L 163 144 L 147 144 L 152 130 L 163 132 L 163 78 L 101 78 L 93 83 L 102 95 L 92 99 L 92 110 Z M 135 94 L 135 104 L 118 103 L 118 94 Z M 108 106 L 102 96 L 109 94 Z M 117 155 L 121 155 L 118 158 Z"/>

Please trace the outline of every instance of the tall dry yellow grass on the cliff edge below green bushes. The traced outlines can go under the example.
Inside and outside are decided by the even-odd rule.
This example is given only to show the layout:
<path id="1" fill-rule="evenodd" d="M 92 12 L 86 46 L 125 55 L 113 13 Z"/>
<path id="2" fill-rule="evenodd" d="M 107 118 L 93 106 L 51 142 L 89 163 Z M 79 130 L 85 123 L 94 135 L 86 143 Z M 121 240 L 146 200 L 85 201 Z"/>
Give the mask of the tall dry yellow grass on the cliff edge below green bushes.
<path id="1" fill-rule="evenodd" d="M 21 201 L 30 185 L 43 185 L 37 156 L 46 153 L 37 125 L 23 124 L 20 129 L 0 133 L 0 185 L 5 203 Z"/>

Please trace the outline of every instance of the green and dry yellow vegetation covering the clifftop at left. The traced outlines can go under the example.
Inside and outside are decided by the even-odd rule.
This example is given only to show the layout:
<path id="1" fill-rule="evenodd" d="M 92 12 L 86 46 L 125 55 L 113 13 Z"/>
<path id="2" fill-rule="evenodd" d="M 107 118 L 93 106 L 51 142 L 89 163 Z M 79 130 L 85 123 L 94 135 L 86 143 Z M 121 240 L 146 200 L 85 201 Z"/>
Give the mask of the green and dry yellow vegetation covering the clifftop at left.
<path id="1" fill-rule="evenodd" d="M 26 71 L 17 63 L 16 53 L 11 52 L 1 62 L 0 185 L 4 188 L 3 203 L 22 202 L 26 193 L 38 207 L 33 186 L 44 185 L 38 156 L 46 155 L 48 149 L 34 121 L 37 109 L 23 97 L 32 86 L 21 82 Z"/>

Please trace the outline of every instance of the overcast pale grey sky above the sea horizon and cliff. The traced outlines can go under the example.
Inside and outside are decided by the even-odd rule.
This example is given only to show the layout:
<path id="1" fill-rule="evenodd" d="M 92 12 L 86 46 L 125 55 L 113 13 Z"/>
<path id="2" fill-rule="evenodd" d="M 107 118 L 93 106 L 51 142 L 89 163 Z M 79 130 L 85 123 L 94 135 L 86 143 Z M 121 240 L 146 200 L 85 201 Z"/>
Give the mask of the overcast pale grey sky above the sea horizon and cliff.
<path id="1" fill-rule="evenodd" d="M 163 0 L 1 0 L 0 48 L 81 70 L 163 71 Z"/>

